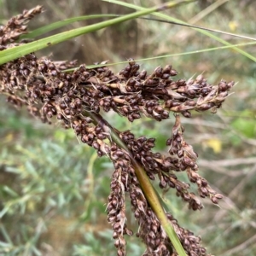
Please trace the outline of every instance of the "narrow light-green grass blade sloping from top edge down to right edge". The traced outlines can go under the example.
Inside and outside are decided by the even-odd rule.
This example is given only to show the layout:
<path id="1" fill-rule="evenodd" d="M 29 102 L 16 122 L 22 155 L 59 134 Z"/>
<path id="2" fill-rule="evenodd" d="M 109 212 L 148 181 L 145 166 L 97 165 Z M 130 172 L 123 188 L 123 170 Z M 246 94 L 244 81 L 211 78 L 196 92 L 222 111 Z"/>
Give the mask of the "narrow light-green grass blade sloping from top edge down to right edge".
<path id="1" fill-rule="evenodd" d="M 143 7 L 139 7 L 139 6 L 135 5 L 135 4 L 132 4 L 132 3 L 124 3 L 124 2 L 121 2 L 121 1 L 118 1 L 118 0 L 102 0 L 102 1 L 108 2 L 108 3 L 116 3 L 116 4 L 119 4 L 119 5 L 128 7 L 128 8 L 131 8 L 131 9 L 137 9 L 137 10 L 143 10 L 143 9 L 144 9 Z M 171 21 L 174 21 L 174 22 L 179 22 L 179 23 L 182 23 L 182 24 L 187 24 L 187 23 L 184 22 L 183 20 L 178 20 L 178 19 L 173 18 L 173 17 L 168 16 L 168 15 L 157 14 L 157 13 L 154 13 L 153 15 L 159 16 L 159 17 L 164 18 L 164 19 L 166 19 L 166 20 L 171 20 Z M 212 39 L 217 40 L 217 41 L 220 42 L 221 44 L 231 45 L 229 42 L 225 41 L 225 40 L 222 39 L 222 38 L 218 38 L 218 37 L 215 36 L 215 35 L 212 35 L 212 33 L 210 33 L 210 32 L 201 30 L 201 29 L 199 29 L 199 28 L 193 28 L 193 29 L 195 29 L 195 30 L 198 31 L 198 32 L 201 32 L 202 34 L 206 35 L 207 37 L 210 37 L 210 38 L 212 38 Z M 244 51 L 244 50 L 242 50 L 242 49 L 239 49 L 239 48 L 237 48 L 237 47 L 232 47 L 232 49 L 235 49 L 237 52 L 241 53 L 241 55 L 246 56 L 247 58 L 251 59 L 252 61 L 256 61 L 256 57 L 254 57 L 253 55 L 248 54 L 246 51 Z"/>

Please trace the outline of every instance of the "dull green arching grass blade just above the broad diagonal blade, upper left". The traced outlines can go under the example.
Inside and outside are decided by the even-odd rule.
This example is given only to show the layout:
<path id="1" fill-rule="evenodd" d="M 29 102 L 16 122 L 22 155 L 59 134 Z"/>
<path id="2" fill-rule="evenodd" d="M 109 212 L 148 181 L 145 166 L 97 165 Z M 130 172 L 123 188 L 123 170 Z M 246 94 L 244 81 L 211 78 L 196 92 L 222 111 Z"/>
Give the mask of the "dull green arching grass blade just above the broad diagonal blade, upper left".
<path id="1" fill-rule="evenodd" d="M 46 26 L 39 27 L 38 29 L 33 30 L 32 32 L 29 32 L 25 35 L 22 35 L 20 39 L 22 38 L 37 38 L 41 35 L 44 35 L 47 32 L 54 31 L 57 28 L 61 28 L 62 26 L 70 25 L 74 22 L 81 21 L 81 20 L 92 20 L 97 18 L 113 18 L 117 17 L 118 15 L 86 15 L 86 16 L 79 16 L 79 17 L 73 17 L 67 20 L 61 20 L 56 21 L 54 23 L 51 23 Z"/>

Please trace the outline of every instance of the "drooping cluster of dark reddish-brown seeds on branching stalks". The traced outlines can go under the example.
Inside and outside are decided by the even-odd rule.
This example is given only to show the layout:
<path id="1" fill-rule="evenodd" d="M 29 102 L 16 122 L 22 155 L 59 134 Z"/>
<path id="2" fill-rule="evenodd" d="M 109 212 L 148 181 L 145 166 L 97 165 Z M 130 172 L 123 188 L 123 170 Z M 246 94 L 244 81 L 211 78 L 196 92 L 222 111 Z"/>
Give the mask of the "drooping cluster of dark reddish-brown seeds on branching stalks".
<path id="1" fill-rule="evenodd" d="M 1 26 L 0 50 L 26 44 L 18 40 L 27 32 L 25 24 L 42 10 L 40 6 L 25 10 Z M 184 140 L 180 114 L 189 118 L 191 110 L 215 113 L 229 96 L 234 82 L 221 80 L 218 85 L 212 85 L 202 75 L 188 81 L 175 80 L 177 71 L 171 65 L 156 67 L 148 74 L 140 71 L 132 59 L 117 74 L 104 64 L 91 69 L 80 65 L 68 73 L 66 69 L 76 67 L 76 61 L 50 61 L 31 53 L 0 66 L 0 93 L 16 108 L 26 106 L 29 113 L 43 122 L 50 124 L 52 119 L 57 119 L 65 128 L 72 128 L 82 143 L 95 148 L 99 156 L 107 155 L 113 162 L 107 211 L 117 255 L 125 255 L 125 235 L 133 234 L 126 225 L 126 195 L 139 225 L 137 236 L 147 247 L 143 255 L 177 255 L 143 194 L 131 158 L 143 166 L 151 180 L 159 178 L 160 189 L 176 189 L 177 196 L 188 202 L 189 208 L 201 210 L 202 204 L 189 191 L 190 184 L 177 178 L 177 172 L 187 173 L 189 182 L 196 183 L 200 197 L 210 197 L 218 204 L 222 195 L 198 174 L 198 156 Z M 136 138 L 131 131 L 117 131 L 109 125 L 101 113 L 110 110 L 130 122 L 143 116 L 162 121 L 169 118 L 170 112 L 175 113 L 172 136 L 166 141 L 167 154 L 153 151 L 154 138 Z M 125 143 L 126 149 L 113 141 L 112 131 Z M 201 247 L 199 237 L 181 228 L 170 213 L 166 216 L 189 256 L 209 255 Z"/>

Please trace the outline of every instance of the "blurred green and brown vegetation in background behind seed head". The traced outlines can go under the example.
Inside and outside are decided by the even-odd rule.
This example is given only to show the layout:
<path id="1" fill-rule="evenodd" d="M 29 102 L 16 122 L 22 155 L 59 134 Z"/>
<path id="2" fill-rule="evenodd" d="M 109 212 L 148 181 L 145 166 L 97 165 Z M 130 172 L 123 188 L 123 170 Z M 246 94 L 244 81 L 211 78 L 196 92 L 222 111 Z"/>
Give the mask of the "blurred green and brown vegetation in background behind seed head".
<path id="1" fill-rule="evenodd" d="M 127 0 L 150 7 L 161 0 Z M 45 12 L 36 17 L 32 30 L 50 22 L 79 15 L 126 14 L 126 9 L 102 1 L 1 0 L 0 23 L 23 9 L 43 4 Z M 166 11 L 190 24 L 241 35 L 255 35 L 255 1 L 201 0 Z M 99 20 L 90 20 L 96 22 Z M 68 29 L 84 26 L 77 22 Z M 60 30 L 59 32 L 67 30 Z M 44 35 L 45 36 L 45 35 Z M 241 38 L 218 35 L 232 44 Z M 191 28 L 156 21 L 131 20 L 55 45 L 37 53 L 50 59 L 117 62 L 133 57 L 189 52 L 221 46 Z M 254 55 L 255 46 L 243 48 Z M 219 207 L 203 201 L 201 212 L 191 212 L 170 190 L 165 199 L 179 224 L 201 236 L 208 252 L 215 255 L 256 254 L 256 63 L 232 49 L 219 49 L 140 62 L 153 71 L 172 64 L 178 78 L 204 73 L 208 81 L 238 82 L 234 94 L 218 113 L 193 113 L 182 119 L 185 137 L 199 154 L 201 175 L 226 197 Z M 124 65 L 113 66 L 118 72 Z M 139 119 L 130 124 L 111 115 L 121 131 L 157 138 L 156 150 L 166 150 L 173 118 L 155 123 Z M 16 110 L 0 96 L 0 255 L 115 255 L 112 231 L 105 209 L 113 167 L 107 158 L 80 144 L 72 130 L 58 124 L 44 125 L 32 119 L 26 109 Z M 182 175 L 182 174 L 181 174 Z M 185 180 L 185 177 L 183 177 Z M 137 224 L 128 210 L 132 230 Z M 129 237 L 128 255 L 141 255 L 143 244 Z"/>

